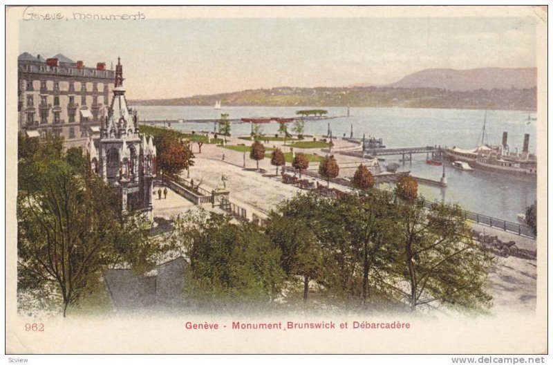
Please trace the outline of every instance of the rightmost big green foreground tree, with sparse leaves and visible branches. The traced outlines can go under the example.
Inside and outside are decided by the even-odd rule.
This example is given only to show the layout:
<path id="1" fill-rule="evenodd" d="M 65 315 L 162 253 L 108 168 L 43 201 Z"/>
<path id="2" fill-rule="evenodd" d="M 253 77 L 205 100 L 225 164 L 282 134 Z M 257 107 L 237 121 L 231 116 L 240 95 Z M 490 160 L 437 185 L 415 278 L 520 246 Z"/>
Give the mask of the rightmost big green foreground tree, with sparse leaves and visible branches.
<path id="1" fill-rule="evenodd" d="M 403 292 L 411 310 L 440 301 L 455 308 L 489 305 L 487 276 L 493 257 L 474 242 L 466 216 L 456 205 L 397 201 L 397 259 L 400 277 L 409 283 Z"/>

